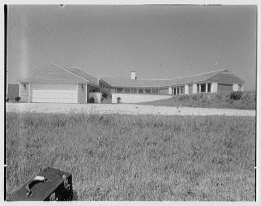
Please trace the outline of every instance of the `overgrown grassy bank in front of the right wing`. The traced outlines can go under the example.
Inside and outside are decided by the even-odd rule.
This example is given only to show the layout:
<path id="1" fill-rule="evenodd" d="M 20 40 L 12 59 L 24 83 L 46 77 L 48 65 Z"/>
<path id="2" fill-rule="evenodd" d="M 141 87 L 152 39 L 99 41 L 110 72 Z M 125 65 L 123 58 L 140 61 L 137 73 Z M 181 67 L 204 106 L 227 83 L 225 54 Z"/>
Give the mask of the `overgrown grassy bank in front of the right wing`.
<path id="1" fill-rule="evenodd" d="M 155 106 L 184 106 L 200 108 L 256 109 L 256 92 L 244 91 L 239 100 L 230 99 L 230 92 L 178 95 L 171 99 L 138 103 Z M 137 103 L 136 103 L 137 104 Z"/>

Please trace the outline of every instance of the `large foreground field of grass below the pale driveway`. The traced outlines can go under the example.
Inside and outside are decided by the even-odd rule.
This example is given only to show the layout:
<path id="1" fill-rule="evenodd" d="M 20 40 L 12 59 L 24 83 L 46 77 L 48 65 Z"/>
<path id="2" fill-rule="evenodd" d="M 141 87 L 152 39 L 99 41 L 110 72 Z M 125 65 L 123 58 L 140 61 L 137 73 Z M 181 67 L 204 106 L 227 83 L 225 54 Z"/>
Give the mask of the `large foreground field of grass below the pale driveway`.
<path id="1" fill-rule="evenodd" d="M 7 113 L 7 197 L 51 166 L 80 201 L 254 201 L 255 118 Z"/>

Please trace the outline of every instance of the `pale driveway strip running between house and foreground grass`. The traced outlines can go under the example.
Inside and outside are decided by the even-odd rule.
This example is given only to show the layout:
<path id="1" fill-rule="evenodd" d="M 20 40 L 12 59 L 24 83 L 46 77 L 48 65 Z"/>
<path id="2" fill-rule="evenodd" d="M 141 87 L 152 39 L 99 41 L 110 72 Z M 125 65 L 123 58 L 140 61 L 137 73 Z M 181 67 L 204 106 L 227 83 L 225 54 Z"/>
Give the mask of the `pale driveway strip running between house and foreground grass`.
<path id="1" fill-rule="evenodd" d="M 7 112 L 153 114 L 153 115 L 226 115 L 255 117 L 255 110 L 168 107 L 135 104 L 6 103 Z"/>

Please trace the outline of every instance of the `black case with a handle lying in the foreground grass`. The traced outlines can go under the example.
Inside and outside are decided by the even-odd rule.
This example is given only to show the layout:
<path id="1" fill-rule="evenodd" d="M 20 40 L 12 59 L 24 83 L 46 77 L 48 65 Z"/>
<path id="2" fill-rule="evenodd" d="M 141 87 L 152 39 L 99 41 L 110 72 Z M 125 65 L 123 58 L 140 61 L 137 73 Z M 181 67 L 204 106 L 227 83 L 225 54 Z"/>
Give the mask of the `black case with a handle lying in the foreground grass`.
<path id="1" fill-rule="evenodd" d="M 72 198 L 72 175 L 47 167 L 7 201 L 70 201 Z"/>

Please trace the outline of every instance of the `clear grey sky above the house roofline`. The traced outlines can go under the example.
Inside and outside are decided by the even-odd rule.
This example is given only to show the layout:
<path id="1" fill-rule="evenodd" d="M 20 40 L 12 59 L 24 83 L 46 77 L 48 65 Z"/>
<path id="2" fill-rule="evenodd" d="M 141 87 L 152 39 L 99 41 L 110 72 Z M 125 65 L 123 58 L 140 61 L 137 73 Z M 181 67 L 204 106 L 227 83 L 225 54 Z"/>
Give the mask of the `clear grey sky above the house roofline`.
<path id="1" fill-rule="evenodd" d="M 228 68 L 256 84 L 257 7 L 8 6 L 8 81 L 49 63 L 170 79 Z"/>

